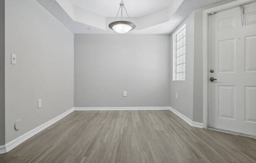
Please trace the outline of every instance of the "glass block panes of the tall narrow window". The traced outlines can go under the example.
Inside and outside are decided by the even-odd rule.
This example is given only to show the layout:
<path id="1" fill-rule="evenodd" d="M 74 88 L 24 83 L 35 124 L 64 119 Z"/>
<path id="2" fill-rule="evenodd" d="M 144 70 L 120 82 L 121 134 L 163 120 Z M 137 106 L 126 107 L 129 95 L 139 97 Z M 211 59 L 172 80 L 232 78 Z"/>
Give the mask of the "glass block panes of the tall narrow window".
<path id="1" fill-rule="evenodd" d="M 176 35 L 176 80 L 186 77 L 186 27 Z"/>

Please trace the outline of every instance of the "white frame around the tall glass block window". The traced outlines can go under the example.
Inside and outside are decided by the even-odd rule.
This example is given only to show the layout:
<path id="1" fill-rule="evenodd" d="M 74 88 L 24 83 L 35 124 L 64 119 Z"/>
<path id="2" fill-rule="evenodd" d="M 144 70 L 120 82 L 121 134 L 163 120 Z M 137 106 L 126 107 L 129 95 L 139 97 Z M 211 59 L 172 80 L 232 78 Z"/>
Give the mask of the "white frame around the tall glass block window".
<path id="1" fill-rule="evenodd" d="M 177 71 L 176 71 L 176 66 L 177 66 L 177 34 L 179 34 L 183 29 L 186 28 L 186 24 L 182 25 L 173 35 L 172 35 L 172 80 L 173 81 L 181 81 L 184 82 L 186 80 L 186 61 L 185 61 L 185 80 L 177 80 Z M 187 51 L 187 28 L 186 28 L 186 42 L 185 42 L 185 58 L 186 58 L 186 51 Z M 184 38 L 184 37 L 183 37 Z M 183 63 L 182 63 L 183 64 Z"/>

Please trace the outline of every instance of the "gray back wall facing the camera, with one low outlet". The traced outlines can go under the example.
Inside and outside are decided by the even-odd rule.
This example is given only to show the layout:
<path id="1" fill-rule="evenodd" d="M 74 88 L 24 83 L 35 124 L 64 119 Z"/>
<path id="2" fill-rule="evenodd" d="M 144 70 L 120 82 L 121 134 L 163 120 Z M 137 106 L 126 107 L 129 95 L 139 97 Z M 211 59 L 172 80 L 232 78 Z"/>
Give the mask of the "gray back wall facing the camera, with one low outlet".
<path id="1" fill-rule="evenodd" d="M 75 34 L 75 107 L 169 106 L 169 46 L 170 35 Z"/>

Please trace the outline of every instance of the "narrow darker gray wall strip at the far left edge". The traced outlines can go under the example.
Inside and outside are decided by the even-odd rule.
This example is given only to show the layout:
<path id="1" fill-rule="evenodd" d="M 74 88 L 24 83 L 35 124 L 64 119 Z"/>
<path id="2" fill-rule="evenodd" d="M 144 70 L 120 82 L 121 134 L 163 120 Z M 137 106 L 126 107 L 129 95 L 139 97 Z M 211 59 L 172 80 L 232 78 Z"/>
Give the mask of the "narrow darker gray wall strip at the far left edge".
<path id="1" fill-rule="evenodd" d="M 5 144 L 5 118 L 4 118 L 4 27 L 5 27 L 5 1 L 0 0 L 0 146 Z"/>

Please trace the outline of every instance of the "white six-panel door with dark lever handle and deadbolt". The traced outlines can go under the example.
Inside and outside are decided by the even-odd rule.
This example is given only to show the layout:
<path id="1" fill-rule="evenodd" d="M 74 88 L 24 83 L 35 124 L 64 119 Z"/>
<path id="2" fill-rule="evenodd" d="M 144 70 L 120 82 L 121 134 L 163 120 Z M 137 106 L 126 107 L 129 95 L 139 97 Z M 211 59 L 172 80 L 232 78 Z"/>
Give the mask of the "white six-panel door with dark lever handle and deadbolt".
<path id="1" fill-rule="evenodd" d="M 208 125 L 256 136 L 256 2 L 244 18 L 240 7 L 209 15 Z"/>

